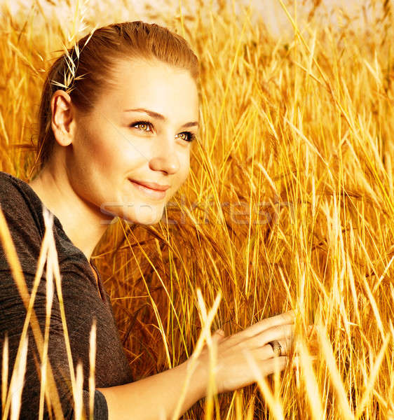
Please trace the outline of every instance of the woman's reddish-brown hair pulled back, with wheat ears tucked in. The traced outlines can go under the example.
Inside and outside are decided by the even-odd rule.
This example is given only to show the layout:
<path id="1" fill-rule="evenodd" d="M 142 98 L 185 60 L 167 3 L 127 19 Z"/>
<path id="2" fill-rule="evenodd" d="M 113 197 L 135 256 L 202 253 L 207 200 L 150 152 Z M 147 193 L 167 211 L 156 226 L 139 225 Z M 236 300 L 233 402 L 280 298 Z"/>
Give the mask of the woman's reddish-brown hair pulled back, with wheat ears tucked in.
<path id="1" fill-rule="evenodd" d="M 189 70 L 196 80 L 198 58 L 182 36 L 165 27 L 137 20 L 96 29 L 81 38 L 68 54 L 64 52 L 50 67 L 39 106 L 39 136 L 36 163 L 48 162 L 55 143 L 51 128 L 50 101 L 56 90 L 65 90 L 77 109 L 88 113 L 104 89 L 111 85 L 117 59 L 158 59 Z"/>

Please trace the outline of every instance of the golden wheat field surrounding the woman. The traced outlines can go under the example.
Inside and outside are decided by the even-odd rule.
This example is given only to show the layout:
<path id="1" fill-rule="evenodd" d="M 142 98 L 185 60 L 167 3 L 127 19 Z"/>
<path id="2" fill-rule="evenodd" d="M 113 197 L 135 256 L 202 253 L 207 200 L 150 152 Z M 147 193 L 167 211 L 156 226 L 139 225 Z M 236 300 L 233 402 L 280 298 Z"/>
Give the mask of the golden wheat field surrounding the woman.
<path id="1" fill-rule="evenodd" d="M 94 259 L 135 379 L 182 363 L 210 330 L 230 335 L 295 309 L 297 365 L 211 393 L 182 419 L 394 419 L 392 3 L 365 1 L 373 13 L 355 26 L 306 0 L 301 28 L 293 1 L 271 1 L 290 36 L 233 2 L 147 8 L 201 59 L 201 132 L 163 221 L 116 219 Z M 87 2 L 3 6 L 0 170 L 34 176 L 45 70 L 62 43 L 136 20 L 126 2 L 116 7 L 103 20 Z"/>

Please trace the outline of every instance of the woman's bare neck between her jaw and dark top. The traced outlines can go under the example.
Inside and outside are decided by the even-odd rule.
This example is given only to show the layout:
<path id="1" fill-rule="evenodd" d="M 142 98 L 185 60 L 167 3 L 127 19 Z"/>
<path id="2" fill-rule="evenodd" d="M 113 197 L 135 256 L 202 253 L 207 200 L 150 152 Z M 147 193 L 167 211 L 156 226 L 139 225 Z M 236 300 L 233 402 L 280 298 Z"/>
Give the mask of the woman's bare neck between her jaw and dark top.
<path id="1" fill-rule="evenodd" d="M 49 164 L 29 182 L 29 186 L 59 219 L 72 243 L 90 260 L 97 242 L 107 230 L 109 221 L 104 220 L 97 207 L 76 193 L 65 172 L 55 172 Z"/>

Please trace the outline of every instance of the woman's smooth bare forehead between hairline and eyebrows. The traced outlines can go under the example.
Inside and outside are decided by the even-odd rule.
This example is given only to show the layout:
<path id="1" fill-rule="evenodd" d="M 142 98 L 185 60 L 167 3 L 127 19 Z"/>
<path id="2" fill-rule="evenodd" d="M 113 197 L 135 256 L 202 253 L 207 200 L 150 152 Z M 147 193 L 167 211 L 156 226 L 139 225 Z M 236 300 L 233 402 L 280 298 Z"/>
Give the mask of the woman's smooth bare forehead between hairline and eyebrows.
<path id="1" fill-rule="evenodd" d="M 123 59 L 102 95 L 117 109 L 146 108 L 177 119 L 198 119 L 198 90 L 188 70 L 147 59 Z"/>

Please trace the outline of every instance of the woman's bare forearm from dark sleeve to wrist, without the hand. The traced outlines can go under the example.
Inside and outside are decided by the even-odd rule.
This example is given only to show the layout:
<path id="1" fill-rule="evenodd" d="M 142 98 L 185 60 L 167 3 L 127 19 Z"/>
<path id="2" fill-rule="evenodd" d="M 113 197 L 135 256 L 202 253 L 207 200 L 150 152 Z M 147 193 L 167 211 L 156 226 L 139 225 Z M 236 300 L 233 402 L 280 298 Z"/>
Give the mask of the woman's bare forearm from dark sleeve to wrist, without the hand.
<path id="1" fill-rule="evenodd" d="M 190 359 L 131 384 L 97 388 L 107 400 L 109 420 L 171 419 L 185 384 L 189 363 Z M 179 415 L 205 396 L 206 375 L 201 367 L 194 370 Z"/>

